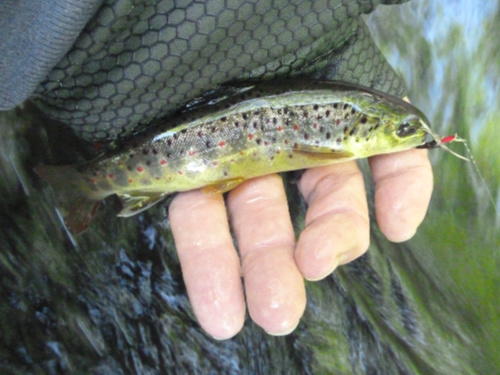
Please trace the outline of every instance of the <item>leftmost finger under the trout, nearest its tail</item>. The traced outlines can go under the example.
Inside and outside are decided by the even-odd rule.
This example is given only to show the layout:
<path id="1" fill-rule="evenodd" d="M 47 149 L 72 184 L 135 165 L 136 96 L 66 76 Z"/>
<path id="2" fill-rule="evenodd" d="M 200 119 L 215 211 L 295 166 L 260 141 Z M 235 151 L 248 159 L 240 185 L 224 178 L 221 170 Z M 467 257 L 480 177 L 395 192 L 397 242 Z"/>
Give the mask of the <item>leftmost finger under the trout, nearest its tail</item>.
<path id="1" fill-rule="evenodd" d="M 218 339 L 241 330 L 245 301 L 239 258 L 222 195 L 178 194 L 169 217 L 184 282 L 202 328 Z"/>

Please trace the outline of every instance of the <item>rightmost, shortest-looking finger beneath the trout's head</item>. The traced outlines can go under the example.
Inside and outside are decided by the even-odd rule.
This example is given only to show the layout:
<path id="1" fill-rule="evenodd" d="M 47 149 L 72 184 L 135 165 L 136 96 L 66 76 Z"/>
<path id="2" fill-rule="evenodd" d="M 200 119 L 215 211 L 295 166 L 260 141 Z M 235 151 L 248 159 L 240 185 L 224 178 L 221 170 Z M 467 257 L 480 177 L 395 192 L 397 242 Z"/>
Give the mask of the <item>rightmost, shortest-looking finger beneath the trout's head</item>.
<path id="1" fill-rule="evenodd" d="M 424 219 L 432 194 L 427 150 L 374 156 L 370 167 L 380 230 L 394 242 L 410 239 Z"/>

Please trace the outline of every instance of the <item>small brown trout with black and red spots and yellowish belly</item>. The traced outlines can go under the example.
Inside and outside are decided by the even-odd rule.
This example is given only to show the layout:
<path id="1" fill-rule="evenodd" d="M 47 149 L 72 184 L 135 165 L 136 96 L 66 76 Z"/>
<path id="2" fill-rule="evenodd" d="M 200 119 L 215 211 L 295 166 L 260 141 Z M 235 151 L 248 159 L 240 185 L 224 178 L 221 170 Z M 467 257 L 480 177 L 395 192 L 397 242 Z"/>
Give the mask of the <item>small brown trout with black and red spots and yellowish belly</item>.
<path id="1" fill-rule="evenodd" d="M 372 155 L 439 138 L 414 106 L 343 82 L 247 83 L 82 165 L 35 169 L 58 193 L 68 229 L 80 233 L 116 194 L 128 217 L 168 194 L 229 191 L 243 181 Z"/>

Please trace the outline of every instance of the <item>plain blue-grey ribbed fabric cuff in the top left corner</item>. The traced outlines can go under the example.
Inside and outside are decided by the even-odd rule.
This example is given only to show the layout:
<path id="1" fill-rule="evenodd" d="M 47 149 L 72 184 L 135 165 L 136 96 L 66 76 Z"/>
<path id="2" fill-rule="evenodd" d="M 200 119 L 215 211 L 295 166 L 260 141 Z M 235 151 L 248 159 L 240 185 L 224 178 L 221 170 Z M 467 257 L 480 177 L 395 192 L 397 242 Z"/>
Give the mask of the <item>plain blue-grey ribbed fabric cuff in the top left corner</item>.
<path id="1" fill-rule="evenodd" d="M 0 110 L 35 91 L 71 49 L 102 0 L 4 0 L 0 7 Z"/>

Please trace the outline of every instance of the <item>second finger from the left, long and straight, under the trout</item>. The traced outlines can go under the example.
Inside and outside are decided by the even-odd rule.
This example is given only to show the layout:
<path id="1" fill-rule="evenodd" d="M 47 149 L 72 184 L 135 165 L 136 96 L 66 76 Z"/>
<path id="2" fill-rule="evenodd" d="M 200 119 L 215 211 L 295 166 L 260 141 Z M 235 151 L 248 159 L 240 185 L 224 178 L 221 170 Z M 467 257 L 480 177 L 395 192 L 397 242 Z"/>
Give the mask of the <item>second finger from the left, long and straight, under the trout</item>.
<path id="1" fill-rule="evenodd" d="M 278 175 L 249 180 L 228 196 L 248 311 L 270 334 L 291 332 L 302 316 L 305 287 L 293 258 L 293 227 Z"/>

